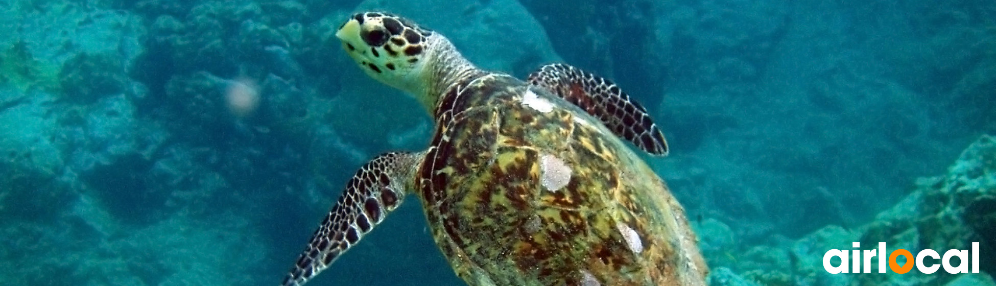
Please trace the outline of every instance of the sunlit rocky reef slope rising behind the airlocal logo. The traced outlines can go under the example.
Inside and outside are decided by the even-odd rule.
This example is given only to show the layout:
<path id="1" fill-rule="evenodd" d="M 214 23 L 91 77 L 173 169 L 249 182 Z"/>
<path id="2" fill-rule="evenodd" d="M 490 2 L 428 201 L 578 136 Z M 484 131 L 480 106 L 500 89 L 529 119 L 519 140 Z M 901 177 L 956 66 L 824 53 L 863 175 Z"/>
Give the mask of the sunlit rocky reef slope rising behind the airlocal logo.
<path id="1" fill-rule="evenodd" d="M 727 241 L 703 238 L 703 251 L 713 267 L 725 266 L 748 281 L 760 285 L 996 285 L 990 277 L 996 265 L 982 254 L 980 274 L 933 274 L 911 271 L 905 274 L 830 274 L 823 268 L 823 256 L 830 249 L 852 249 L 860 242 L 871 249 L 885 242 L 888 249 L 969 249 L 981 242 L 980 253 L 991 253 L 992 225 L 996 217 L 996 137 L 983 136 L 969 145 L 948 168 L 945 175 L 916 180 L 916 189 L 899 203 L 886 209 L 871 222 L 853 229 L 828 225 L 798 240 L 781 239 L 755 246 L 736 257 L 724 259 L 711 249 L 730 245 Z M 703 237 L 728 236 L 729 231 L 705 221 L 697 226 Z M 717 229 L 720 229 L 717 231 Z M 713 250 L 714 251 L 714 250 Z M 878 257 L 871 258 L 877 263 Z M 957 264 L 955 264 L 957 265 Z M 716 279 L 729 280 L 725 272 Z M 969 278 L 966 278 L 969 277 Z M 971 281 L 971 282 L 969 282 Z M 724 282 L 725 283 L 725 282 Z M 965 284 L 979 283 L 979 284 Z M 739 285 L 726 283 L 721 285 Z"/>

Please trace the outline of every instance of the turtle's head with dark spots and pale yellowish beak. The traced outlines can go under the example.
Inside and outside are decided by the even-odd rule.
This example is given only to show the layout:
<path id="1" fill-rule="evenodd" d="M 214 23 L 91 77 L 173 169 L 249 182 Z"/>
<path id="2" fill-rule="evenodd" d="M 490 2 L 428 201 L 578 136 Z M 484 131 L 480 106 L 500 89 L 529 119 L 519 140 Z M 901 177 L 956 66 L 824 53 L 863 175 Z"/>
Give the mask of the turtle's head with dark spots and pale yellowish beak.
<path id="1" fill-rule="evenodd" d="M 423 97 L 430 88 L 426 86 L 431 81 L 426 72 L 431 57 L 427 46 L 430 40 L 442 38 L 432 31 L 402 17 L 366 12 L 350 17 L 336 37 L 373 79 L 415 97 Z"/>

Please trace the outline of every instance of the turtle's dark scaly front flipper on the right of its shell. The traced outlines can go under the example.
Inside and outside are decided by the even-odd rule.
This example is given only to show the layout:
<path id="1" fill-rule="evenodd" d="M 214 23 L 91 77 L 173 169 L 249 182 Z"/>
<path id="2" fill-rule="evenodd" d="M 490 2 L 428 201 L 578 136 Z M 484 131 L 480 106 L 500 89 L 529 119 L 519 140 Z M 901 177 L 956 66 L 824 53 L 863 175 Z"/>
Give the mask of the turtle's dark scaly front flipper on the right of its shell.
<path id="1" fill-rule="evenodd" d="M 565 64 L 543 66 L 528 81 L 585 110 L 640 149 L 667 154 L 667 141 L 650 115 L 613 82 Z"/>

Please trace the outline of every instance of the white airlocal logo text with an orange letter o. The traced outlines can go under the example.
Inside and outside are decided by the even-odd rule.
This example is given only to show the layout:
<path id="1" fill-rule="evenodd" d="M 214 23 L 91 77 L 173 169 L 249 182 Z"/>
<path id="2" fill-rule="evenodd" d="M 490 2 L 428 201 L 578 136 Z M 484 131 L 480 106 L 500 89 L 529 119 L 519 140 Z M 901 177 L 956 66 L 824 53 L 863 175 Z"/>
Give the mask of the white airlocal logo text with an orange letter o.
<path id="1" fill-rule="evenodd" d="M 854 248 L 858 248 L 861 246 L 861 243 L 854 242 L 852 245 Z M 862 263 L 862 252 L 864 252 L 865 263 Z M 875 252 L 877 252 L 877 254 Z M 924 274 L 936 272 L 937 268 L 941 265 L 944 266 L 944 271 L 947 271 L 947 273 L 968 273 L 968 250 L 950 249 L 945 251 L 943 258 L 941 258 L 941 256 L 937 254 L 937 251 L 934 251 L 933 249 L 923 249 L 916 254 L 916 259 L 914 260 L 913 254 L 910 253 L 909 250 L 896 249 L 892 251 L 892 253 L 888 254 L 888 259 L 882 259 L 882 257 L 885 257 L 885 242 L 878 242 L 877 250 L 853 249 L 851 250 L 851 253 L 853 253 L 851 255 L 852 259 L 848 259 L 848 250 L 831 249 L 830 251 L 827 251 L 827 253 L 823 255 L 823 268 L 827 269 L 827 272 L 830 272 L 830 274 L 848 273 L 849 268 L 851 269 L 851 273 L 871 273 L 871 257 L 875 257 L 877 255 L 878 273 L 885 273 L 885 261 L 888 261 L 888 269 L 892 269 L 892 272 L 899 274 L 909 272 L 909 270 L 913 269 L 913 264 L 916 264 L 916 269 Z M 906 263 L 903 263 L 902 266 L 899 266 L 898 261 L 896 261 L 896 258 L 899 256 L 904 256 L 906 258 Z M 841 258 L 841 265 L 831 265 L 830 260 L 834 257 Z M 927 257 L 934 260 L 940 259 L 940 265 L 937 265 L 938 263 L 934 261 L 930 266 L 925 266 L 923 264 L 923 260 Z M 958 257 L 958 266 L 951 266 L 951 257 Z M 853 267 L 848 267 L 848 261 L 853 261 Z M 972 273 L 979 273 L 978 242 L 972 242 L 971 264 Z M 861 267 L 862 265 L 865 267 Z M 859 270 L 864 271 L 859 272 Z"/>

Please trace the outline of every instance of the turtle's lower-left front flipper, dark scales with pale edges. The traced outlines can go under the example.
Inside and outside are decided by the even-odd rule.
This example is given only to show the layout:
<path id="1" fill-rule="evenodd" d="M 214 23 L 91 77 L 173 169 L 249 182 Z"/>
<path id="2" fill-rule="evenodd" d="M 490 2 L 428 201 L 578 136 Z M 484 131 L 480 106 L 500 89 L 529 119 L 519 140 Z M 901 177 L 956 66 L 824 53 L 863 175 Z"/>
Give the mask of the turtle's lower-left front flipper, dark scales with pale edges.
<path id="1" fill-rule="evenodd" d="M 401 204 L 421 159 L 421 153 L 388 152 L 360 168 L 281 285 L 305 284 L 383 221 Z"/>

